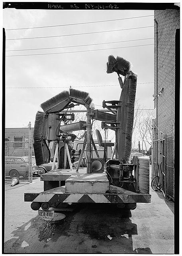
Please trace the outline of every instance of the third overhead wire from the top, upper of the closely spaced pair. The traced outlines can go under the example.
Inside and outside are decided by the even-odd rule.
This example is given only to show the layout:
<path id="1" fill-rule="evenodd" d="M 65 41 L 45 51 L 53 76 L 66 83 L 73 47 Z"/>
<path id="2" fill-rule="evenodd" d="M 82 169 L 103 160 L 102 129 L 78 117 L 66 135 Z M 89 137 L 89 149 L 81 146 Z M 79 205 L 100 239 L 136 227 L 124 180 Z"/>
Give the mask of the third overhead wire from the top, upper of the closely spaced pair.
<path id="1" fill-rule="evenodd" d="M 135 39 L 135 40 L 126 40 L 126 41 L 117 41 L 117 42 L 106 42 L 106 43 L 98 43 L 98 44 L 82 44 L 82 45 L 73 45 L 73 46 L 59 46 L 59 47 L 49 47 L 49 48 L 35 48 L 35 49 L 20 49 L 20 50 L 6 50 L 6 52 L 14 52 L 14 51 L 29 51 L 29 50 L 46 50 L 46 49 L 57 49 L 57 48 L 69 48 L 69 47 L 80 47 L 80 46 L 91 46 L 91 45 L 100 45 L 100 44 L 115 44 L 115 43 L 122 43 L 122 42 L 131 42 L 131 41 L 139 41 L 139 40 L 148 40 L 154 39 L 151 38 L 142 38 L 142 39 Z"/>

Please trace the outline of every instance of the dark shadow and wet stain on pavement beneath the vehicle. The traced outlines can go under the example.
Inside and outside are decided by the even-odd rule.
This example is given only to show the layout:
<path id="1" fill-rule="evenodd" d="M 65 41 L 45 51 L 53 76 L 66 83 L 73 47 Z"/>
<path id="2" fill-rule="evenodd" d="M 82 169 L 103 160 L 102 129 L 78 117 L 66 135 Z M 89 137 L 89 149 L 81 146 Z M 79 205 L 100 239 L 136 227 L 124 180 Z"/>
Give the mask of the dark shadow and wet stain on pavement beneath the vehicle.
<path id="1" fill-rule="evenodd" d="M 106 253 L 106 246 L 109 248 L 108 252 L 112 250 L 112 253 L 152 253 L 150 248 L 133 250 L 132 235 L 137 235 L 137 225 L 130 220 L 130 210 L 118 209 L 111 204 L 79 204 L 76 210 L 64 214 L 66 218 L 55 223 L 32 218 L 12 232 L 14 237 L 5 242 L 4 252 L 41 253 L 41 248 L 48 252 L 51 250 L 51 241 L 51 244 L 54 244 L 51 252 L 61 253 L 62 242 L 69 237 L 75 245 L 74 248 L 78 247 L 78 250 L 82 251 L 82 247 L 87 246 L 87 253 L 91 253 L 87 245 L 90 245 L 91 241 L 91 248 L 98 247 L 96 253 Z M 82 237 L 82 240 L 78 240 L 78 236 Z M 93 241 L 96 242 L 93 244 Z M 74 253 L 69 249 L 69 245 L 67 246 L 67 253 Z"/>

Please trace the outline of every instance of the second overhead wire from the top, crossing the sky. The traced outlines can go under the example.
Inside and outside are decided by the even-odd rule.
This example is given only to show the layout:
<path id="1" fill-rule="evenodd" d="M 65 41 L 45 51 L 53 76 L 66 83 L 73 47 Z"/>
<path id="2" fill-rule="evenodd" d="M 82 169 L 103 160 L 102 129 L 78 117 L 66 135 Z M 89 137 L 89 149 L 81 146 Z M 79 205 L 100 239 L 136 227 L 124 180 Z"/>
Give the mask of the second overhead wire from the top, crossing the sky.
<path id="1" fill-rule="evenodd" d="M 138 27 L 138 28 L 152 28 L 154 26 L 145 26 L 145 27 Z M 124 28 L 124 29 L 117 29 L 117 30 L 106 30 L 106 31 L 98 31 L 98 32 L 87 32 L 87 33 L 79 33 L 79 34 L 68 34 L 68 35 L 59 35 L 59 36 L 39 36 L 39 37 L 25 37 L 25 38 L 10 38 L 8 40 L 22 40 L 22 39 L 35 39 L 35 38 L 51 38 L 51 37 L 62 37 L 62 36 L 78 36 L 78 35 L 86 35 L 86 34 L 97 34 L 97 33 L 106 33 L 106 32 L 115 32 L 115 31 L 122 31 L 122 30 L 131 30 L 131 29 L 138 29 L 138 28 Z"/>

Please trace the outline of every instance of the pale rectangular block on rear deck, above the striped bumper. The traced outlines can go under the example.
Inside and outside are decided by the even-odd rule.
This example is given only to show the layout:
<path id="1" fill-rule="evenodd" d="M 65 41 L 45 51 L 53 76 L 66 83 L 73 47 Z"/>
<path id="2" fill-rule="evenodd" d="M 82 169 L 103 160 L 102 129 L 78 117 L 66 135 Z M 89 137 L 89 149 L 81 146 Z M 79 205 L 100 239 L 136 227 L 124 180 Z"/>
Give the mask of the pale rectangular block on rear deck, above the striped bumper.
<path id="1" fill-rule="evenodd" d="M 105 173 L 76 174 L 65 181 L 66 193 L 106 193 L 109 181 Z"/>

